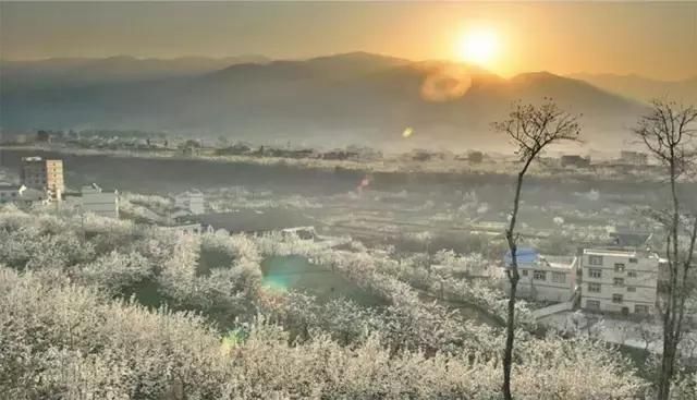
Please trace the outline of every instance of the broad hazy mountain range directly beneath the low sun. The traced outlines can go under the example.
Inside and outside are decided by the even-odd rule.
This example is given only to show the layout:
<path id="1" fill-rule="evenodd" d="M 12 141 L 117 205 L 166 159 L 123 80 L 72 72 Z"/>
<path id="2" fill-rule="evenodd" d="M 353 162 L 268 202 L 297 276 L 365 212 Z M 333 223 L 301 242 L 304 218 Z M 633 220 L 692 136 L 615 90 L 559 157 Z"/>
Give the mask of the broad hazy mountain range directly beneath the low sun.
<path id="1" fill-rule="evenodd" d="M 212 62 L 182 60 L 142 63 L 140 68 L 120 63 L 90 62 L 90 71 L 96 72 L 82 75 L 94 77 L 63 85 L 37 86 L 8 74 L 3 80 L 11 84 L 0 87 L 0 125 L 5 130 L 142 129 L 261 143 L 395 149 L 486 147 L 504 143 L 503 137 L 492 136 L 490 123 L 505 117 L 513 101 L 553 97 L 562 107 L 584 114 L 587 138 L 619 145 L 645 107 L 547 72 L 506 80 L 470 65 L 364 52 L 234 63 L 213 70 Z M 78 68 L 68 65 L 73 64 L 64 62 L 58 70 L 75 76 Z M 33 73 L 53 73 L 42 68 L 36 66 Z M 4 75 L 4 70 L 0 72 Z M 401 133 L 407 126 L 415 134 L 405 142 Z"/>

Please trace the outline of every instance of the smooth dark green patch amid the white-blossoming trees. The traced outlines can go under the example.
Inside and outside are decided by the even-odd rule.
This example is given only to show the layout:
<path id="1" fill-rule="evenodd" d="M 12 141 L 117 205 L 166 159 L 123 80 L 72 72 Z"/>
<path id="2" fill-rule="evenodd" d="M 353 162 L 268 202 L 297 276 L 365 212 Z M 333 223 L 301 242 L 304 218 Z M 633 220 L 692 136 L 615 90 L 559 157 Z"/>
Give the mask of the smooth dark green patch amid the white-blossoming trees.
<path id="1" fill-rule="evenodd" d="M 297 290 L 320 302 L 346 298 L 365 306 L 386 305 L 381 298 L 302 256 L 274 256 L 261 262 L 264 284 L 279 291 Z"/>

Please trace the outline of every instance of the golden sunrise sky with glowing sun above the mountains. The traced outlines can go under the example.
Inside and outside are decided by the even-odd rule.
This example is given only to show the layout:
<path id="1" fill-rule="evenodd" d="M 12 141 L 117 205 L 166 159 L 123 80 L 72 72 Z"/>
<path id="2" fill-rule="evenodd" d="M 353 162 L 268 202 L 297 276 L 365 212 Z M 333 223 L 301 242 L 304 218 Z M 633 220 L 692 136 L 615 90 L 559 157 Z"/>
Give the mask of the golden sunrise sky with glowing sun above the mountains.
<path id="1" fill-rule="evenodd" d="M 697 75 L 697 1 L 0 2 L 3 60 L 297 59 L 358 50 L 462 60 L 472 57 L 467 46 L 481 66 L 503 76 L 550 71 L 681 80 Z"/>

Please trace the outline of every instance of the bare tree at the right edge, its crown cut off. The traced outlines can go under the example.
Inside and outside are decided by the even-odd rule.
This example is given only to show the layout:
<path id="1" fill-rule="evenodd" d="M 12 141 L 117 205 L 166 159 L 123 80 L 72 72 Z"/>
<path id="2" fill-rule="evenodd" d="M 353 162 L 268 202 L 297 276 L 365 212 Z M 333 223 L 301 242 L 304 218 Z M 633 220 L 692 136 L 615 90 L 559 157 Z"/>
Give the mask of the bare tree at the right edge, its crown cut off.
<path id="1" fill-rule="evenodd" d="M 697 109 L 653 100 L 651 111 L 639 119 L 634 134 L 663 167 L 670 182 L 671 204 L 660 210 L 665 227 L 668 284 L 661 296 L 663 353 L 658 379 L 658 399 L 668 400 L 674 375 L 677 346 L 683 332 L 685 299 L 690 291 L 688 272 L 695 255 L 697 216 L 683 207 L 681 182 L 690 178 L 697 160 Z M 694 175 L 693 175 L 694 178 Z"/>

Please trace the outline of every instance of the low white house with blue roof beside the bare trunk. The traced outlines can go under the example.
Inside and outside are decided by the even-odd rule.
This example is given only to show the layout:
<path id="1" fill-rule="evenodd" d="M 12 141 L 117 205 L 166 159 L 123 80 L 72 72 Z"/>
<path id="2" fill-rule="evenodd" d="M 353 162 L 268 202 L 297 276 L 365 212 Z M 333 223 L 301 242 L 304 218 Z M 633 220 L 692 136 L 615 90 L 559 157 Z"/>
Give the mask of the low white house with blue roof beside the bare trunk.
<path id="1" fill-rule="evenodd" d="M 517 291 L 522 298 L 536 301 L 567 302 L 575 293 L 576 257 L 543 256 L 534 249 L 521 247 L 516 251 L 518 265 Z M 505 268 L 511 268 L 511 253 L 504 257 Z M 508 279 L 505 280 L 509 284 Z"/>

